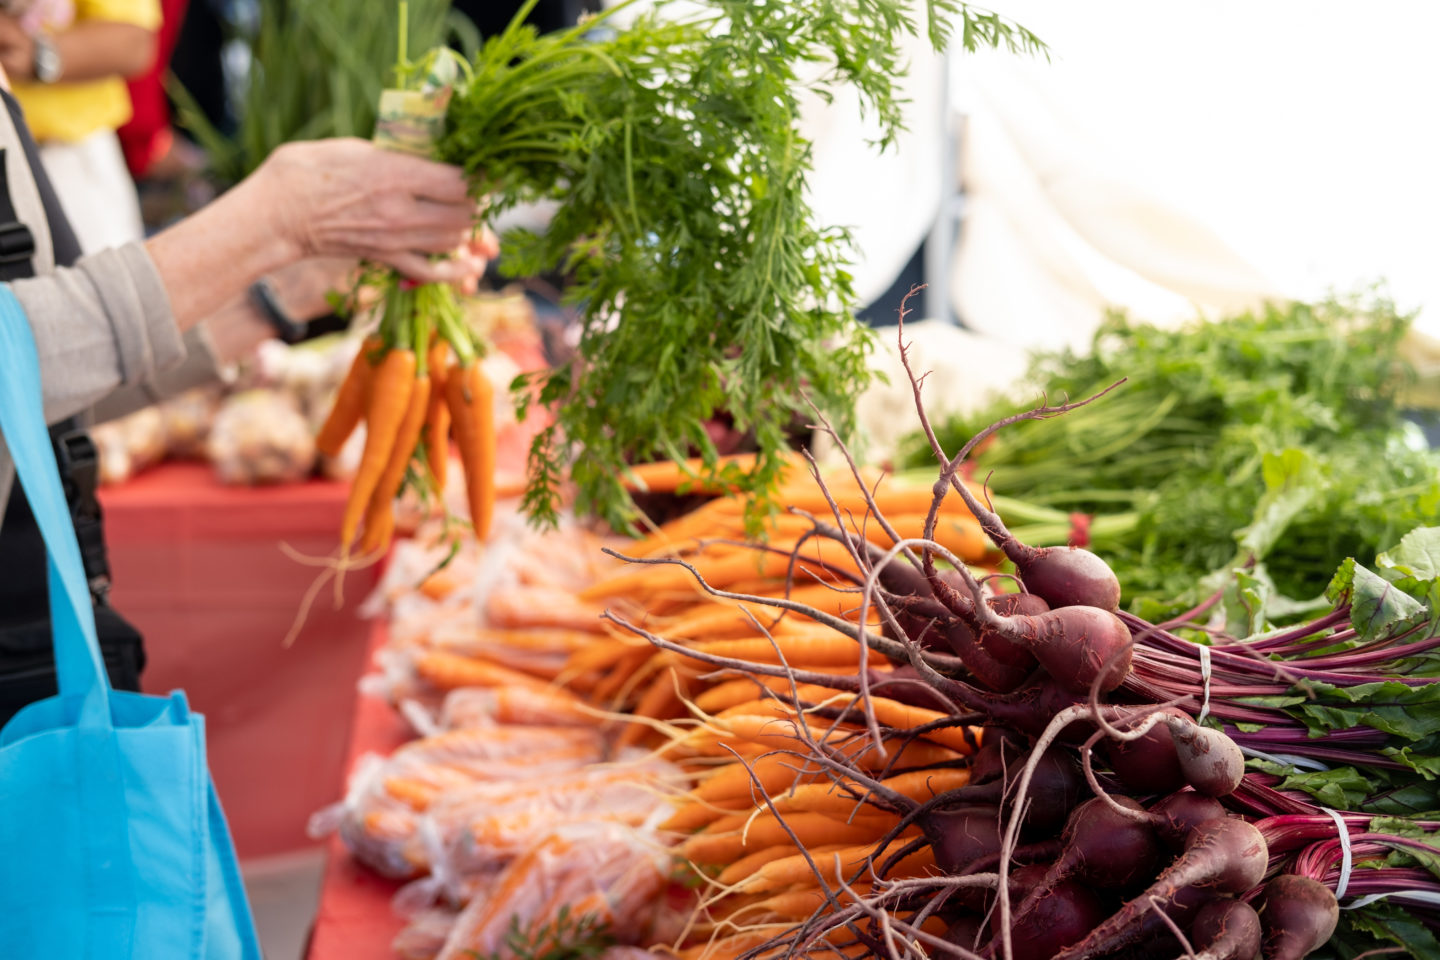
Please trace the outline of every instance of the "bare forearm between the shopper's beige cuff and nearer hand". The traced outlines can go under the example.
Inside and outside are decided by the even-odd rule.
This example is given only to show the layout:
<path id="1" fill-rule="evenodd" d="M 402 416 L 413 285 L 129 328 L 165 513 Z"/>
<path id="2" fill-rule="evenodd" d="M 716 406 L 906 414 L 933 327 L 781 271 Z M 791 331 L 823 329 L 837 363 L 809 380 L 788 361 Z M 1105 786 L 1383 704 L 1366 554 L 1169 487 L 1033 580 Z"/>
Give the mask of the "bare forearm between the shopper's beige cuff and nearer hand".
<path id="1" fill-rule="evenodd" d="M 275 226 L 264 171 L 145 240 L 180 330 L 229 309 L 261 275 L 300 259 Z"/>

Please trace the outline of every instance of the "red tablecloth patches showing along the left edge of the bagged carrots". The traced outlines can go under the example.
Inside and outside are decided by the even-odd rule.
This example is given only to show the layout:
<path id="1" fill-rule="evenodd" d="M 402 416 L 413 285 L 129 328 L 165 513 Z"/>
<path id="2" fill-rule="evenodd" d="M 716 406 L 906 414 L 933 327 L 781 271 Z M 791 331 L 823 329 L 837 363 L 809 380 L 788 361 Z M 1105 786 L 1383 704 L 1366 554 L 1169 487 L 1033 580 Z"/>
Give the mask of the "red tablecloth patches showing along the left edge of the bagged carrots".
<path id="1" fill-rule="evenodd" d="M 372 649 L 382 643 L 384 625 L 376 623 Z M 360 697 L 346 769 L 363 753 L 390 753 L 408 738 L 395 710 L 374 697 Z M 395 960 L 390 941 L 405 925 L 390 910 L 399 887 L 357 864 L 338 838 L 331 839 L 307 960 Z"/>

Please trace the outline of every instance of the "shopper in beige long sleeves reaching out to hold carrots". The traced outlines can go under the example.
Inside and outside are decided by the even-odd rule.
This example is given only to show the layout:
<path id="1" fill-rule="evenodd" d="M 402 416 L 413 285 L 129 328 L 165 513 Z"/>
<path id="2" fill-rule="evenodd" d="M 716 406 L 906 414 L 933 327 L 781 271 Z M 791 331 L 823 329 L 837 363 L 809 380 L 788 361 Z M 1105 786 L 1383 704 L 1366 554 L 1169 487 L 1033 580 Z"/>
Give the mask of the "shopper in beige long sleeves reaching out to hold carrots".
<path id="1" fill-rule="evenodd" d="M 111 682 L 138 689 L 141 638 L 107 602 L 95 452 L 75 416 L 127 393 L 138 403 L 154 399 L 177 367 L 204 376 L 268 337 L 298 335 L 324 309 L 334 278 L 360 258 L 418 279 L 474 284 L 494 239 L 472 239 L 475 204 L 459 170 L 330 140 L 275 151 L 213 204 L 145 242 L 82 256 L 16 98 L 0 98 L 0 233 L 10 253 L 0 282 L 35 332 Z M 429 256 L 451 250 L 451 259 Z M 272 296 L 253 295 L 261 281 Z M 197 330 L 207 331 L 206 354 L 192 350 Z M 55 692 L 45 544 L 13 478 L 0 438 L 0 723 Z"/>

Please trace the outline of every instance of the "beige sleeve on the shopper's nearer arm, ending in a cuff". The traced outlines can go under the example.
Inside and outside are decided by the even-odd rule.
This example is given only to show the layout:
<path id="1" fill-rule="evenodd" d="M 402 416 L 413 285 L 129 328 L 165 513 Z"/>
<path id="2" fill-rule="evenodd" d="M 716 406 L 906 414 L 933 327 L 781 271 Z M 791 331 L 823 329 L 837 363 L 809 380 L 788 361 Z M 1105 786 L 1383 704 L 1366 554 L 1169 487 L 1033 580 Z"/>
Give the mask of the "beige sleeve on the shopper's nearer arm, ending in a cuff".
<path id="1" fill-rule="evenodd" d="M 170 298 L 143 243 L 14 281 L 12 289 L 35 331 L 50 423 L 186 357 Z"/>

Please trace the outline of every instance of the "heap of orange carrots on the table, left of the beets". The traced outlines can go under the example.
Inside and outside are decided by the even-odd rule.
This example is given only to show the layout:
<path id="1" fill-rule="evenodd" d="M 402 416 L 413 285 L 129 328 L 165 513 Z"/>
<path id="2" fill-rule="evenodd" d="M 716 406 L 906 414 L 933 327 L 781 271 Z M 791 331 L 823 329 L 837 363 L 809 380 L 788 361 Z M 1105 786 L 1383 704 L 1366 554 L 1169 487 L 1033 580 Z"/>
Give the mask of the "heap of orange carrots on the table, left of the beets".
<path id="1" fill-rule="evenodd" d="M 635 489 L 684 492 L 693 489 L 697 471 L 696 463 L 644 465 L 628 479 Z M 861 517 L 860 484 L 868 488 L 877 479 L 827 475 L 827 485 L 842 515 Z M 779 497 L 782 507 L 834 521 L 814 478 L 798 463 Z M 919 534 L 929 505 L 927 488 L 884 481 L 876 497 L 893 511 L 901 535 Z M 880 751 L 850 715 L 854 698 L 848 694 L 804 687 L 798 691 L 801 699 L 822 705 L 828 718 L 802 717 L 770 697 L 779 681 L 708 675 L 704 665 L 657 649 L 602 619 L 603 612 L 613 610 L 675 643 L 719 656 L 756 664 L 783 658 L 795 668 L 831 674 L 858 669 L 858 645 L 829 626 L 798 615 L 776 619 L 773 607 L 757 602 L 711 596 L 678 566 L 631 564 L 602 553 L 609 547 L 634 557 L 681 557 L 716 589 L 755 597 L 791 596 L 854 620 L 858 571 L 848 554 L 834 541 L 802 541 L 801 531 L 809 521 L 802 525 L 798 515 L 785 511 L 765 524 L 763 541 L 749 540 L 746 507 L 737 498 L 717 497 L 638 541 L 575 527 L 546 534 L 507 531 L 491 544 L 467 543 L 419 590 L 403 586 L 402 569 L 433 567 L 442 544 L 426 544 L 423 530 L 416 540 L 402 541 L 392 557 L 392 583 L 399 586 L 392 586 L 390 594 L 396 613 L 386 651 L 389 689 L 392 701 L 406 705 L 412 721 L 418 712 L 432 718 L 420 724 L 431 740 L 416 741 L 386 761 L 386 776 L 373 782 L 364 794 L 369 799 L 343 830 L 351 849 L 390 875 L 413 878 L 419 871 L 423 877 L 429 864 L 416 853 L 422 848 L 412 838 L 449 836 L 454 828 L 420 829 L 422 820 L 438 823 L 436 818 L 445 816 L 449 822 L 445 812 L 469 794 L 526 796 L 546 782 L 531 770 L 533 764 L 477 763 L 454 754 L 415 767 L 413 759 L 422 753 L 451 751 L 456 744 L 481 748 L 485 740 L 491 746 L 484 748 L 494 750 L 523 741 L 526 734 L 507 731 L 524 728 L 554 733 L 560 740 L 599 737 L 603 748 L 588 761 L 595 774 L 582 766 L 562 779 L 615 776 L 603 773 L 613 770 L 622 780 L 648 783 L 654 818 L 639 826 L 636 810 L 626 807 L 628 823 L 608 819 L 602 825 L 606 842 L 615 842 L 619 828 L 657 838 L 636 842 L 668 846 L 674 858 L 670 872 L 678 878 L 662 898 L 668 920 L 649 917 L 639 923 L 626 915 L 624 923 L 639 925 L 621 931 L 625 941 L 665 947 L 681 960 L 724 960 L 759 943 L 752 927 L 793 923 L 819 904 L 815 875 L 796 838 L 804 852 L 824 861 L 822 869 L 850 875 L 852 865 L 873 853 L 896 826 L 894 816 L 858 806 L 845 784 L 773 751 L 802 750 L 804 733 L 825 738 L 865 770 L 883 776 L 887 786 L 919 800 L 962 784 L 968 777 L 965 757 L 976 748 L 975 731 L 930 730 L 903 743 L 887 741 Z M 877 545 L 890 545 L 878 528 L 848 520 L 847 525 Z M 946 504 L 939 535 L 982 570 L 995 560 L 973 518 L 953 507 L 953 499 Z M 497 570 L 500 580 L 484 586 Z M 874 616 L 871 625 L 878 626 Z M 870 658 L 870 669 L 888 669 L 878 659 Z M 422 710 L 416 711 L 416 705 Z M 939 717 L 883 697 L 873 698 L 873 708 L 877 721 L 897 737 Z M 562 730 L 573 733 L 559 734 Z M 657 779 L 655 761 L 661 770 L 680 771 L 681 780 L 672 774 Z M 552 793 L 560 794 L 559 780 Z M 762 797 L 769 797 L 788 829 Z M 590 816 L 606 819 L 613 813 L 595 809 Z M 567 822 L 560 815 L 552 819 Z M 469 823 L 475 836 L 488 830 L 478 829 L 478 820 Z M 543 839 L 540 830 L 524 842 L 543 846 L 556 841 Z M 588 841 L 576 836 L 564 842 L 573 846 Z M 446 872 L 454 868 L 449 862 Z M 534 869 L 534 858 L 521 855 L 507 869 Z M 920 853 L 906 858 L 891 875 L 929 869 Z M 621 920 L 618 914 L 609 918 Z M 504 925 L 505 918 L 491 921 Z M 526 914 L 518 921 L 521 927 L 543 924 L 546 917 Z M 472 933 L 461 937 L 452 914 L 439 921 L 431 917 L 429 923 L 448 933 L 436 940 L 412 925 L 403 938 L 408 957 L 451 956 L 461 943 L 467 948 L 477 944 Z M 446 940 L 449 948 L 441 948 Z M 435 943 L 436 953 L 418 948 L 418 943 Z"/>

